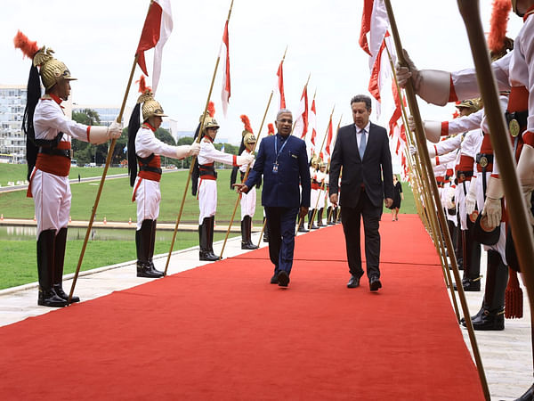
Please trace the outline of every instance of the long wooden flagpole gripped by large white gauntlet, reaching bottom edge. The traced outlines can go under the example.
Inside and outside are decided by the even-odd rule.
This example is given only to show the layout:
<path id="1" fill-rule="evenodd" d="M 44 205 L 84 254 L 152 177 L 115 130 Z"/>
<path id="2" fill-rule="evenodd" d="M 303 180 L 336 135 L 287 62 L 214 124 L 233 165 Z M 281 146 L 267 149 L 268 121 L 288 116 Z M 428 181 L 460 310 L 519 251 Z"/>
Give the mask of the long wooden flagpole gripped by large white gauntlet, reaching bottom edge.
<path id="1" fill-rule="evenodd" d="M 407 65 L 407 62 L 404 59 L 404 53 L 403 53 L 403 48 L 401 44 L 401 37 L 399 36 L 397 23 L 395 21 L 395 16 L 392 11 L 392 4 L 390 0 L 384 0 L 384 4 L 387 9 L 387 15 L 391 23 L 392 36 L 393 36 L 393 40 L 395 43 L 395 48 L 397 50 L 397 57 L 399 58 L 399 63 L 401 65 Z M 487 58 L 487 55 L 486 55 L 486 58 Z M 419 149 L 419 153 L 423 156 L 423 161 L 424 161 L 423 165 L 425 166 L 427 171 L 429 171 L 430 170 L 429 167 L 431 166 L 430 157 L 428 156 L 428 149 L 426 148 L 425 130 L 423 127 L 423 121 L 421 119 L 419 106 L 417 104 L 416 91 L 414 89 L 414 83 L 413 83 L 412 78 L 409 78 L 407 82 L 406 94 L 408 97 L 409 109 L 411 110 L 411 114 L 414 117 L 414 121 L 416 123 L 416 139 L 417 139 L 417 145 L 418 145 L 417 147 Z M 509 143 L 508 143 L 508 146 L 509 146 Z M 436 200 L 436 203 L 437 203 L 437 200 L 439 199 L 438 186 L 435 180 L 429 180 L 429 181 L 431 182 L 430 184 L 431 184 L 434 200 Z M 437 211 L 438 211 L 440 225 L 441 227 L 444 227 L 444 229 L 442 230 L 443 236 L 445 237 L 445 243 L 447 244 L 447 249 L 449 250 L 449 258 L 450 258 L 450 262 L 452 265 L 452 271 L 457 282 L 457 290 L 458 290 L 458 293 L 460 293 L 464 291 L 464 288 L 462 286 L 462 280 L 460 279 L 459 274 L 458 274 L 457 260 L 454 255 L 454 247 L 452 246 L 452 241 L 450 239 L 449 230 L 446 229 L 447 221 L 445 219 L 443 209 L 442 208 L 437 208 L 437 209 L 438 209 Z M 469 339 L 471 340 L 471 346 L 473 348 L 473 356 L 475 359 L 475 363 L 477 365 L 477 370 L 479 372 L 479 377 L 481 380 L 481 386 L 484 392 L 484 397 L 486 397 L 487 400 L 490 400 L 490 389 L 488 389 L 488 381 L 486 380 L 486 375 L 484 373 L 484 368 L 482 366 L 481 356 L 480 356 L 480 352 L 477 346 L 476 337 L 474 336 L 474 332 L 472 330 L 473 323 L 471 322 L 471 315 L 469 314 L 469 307 L 467 306 L 467 303 L 465 302 L 465 296 L 464 297 L 460 296 L 460 302 L 462 304 L 462 310 L 464 312 L 465 325 L 467 327 L 471 326 L 471 329 L 468 330 Z"/>

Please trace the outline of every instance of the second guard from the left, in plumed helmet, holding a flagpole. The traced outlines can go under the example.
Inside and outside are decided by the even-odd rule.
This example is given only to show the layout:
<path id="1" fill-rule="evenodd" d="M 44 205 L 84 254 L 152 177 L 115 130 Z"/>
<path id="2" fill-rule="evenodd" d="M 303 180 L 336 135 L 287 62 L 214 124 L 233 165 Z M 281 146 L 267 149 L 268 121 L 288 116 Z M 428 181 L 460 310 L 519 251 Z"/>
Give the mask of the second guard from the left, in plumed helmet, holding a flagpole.
<path id="1" fill-rule="evenodd" d="M 192 145 L 171 146 L 159 141 L 155 132 L 161 126 L 166 114 L 154 99 L 150 87 L 145 85 L 144 77 L 141 77 L 139 92 L 142 94 L 137 100 L 128 124 L 128 172 L 130 185 L 134 187 L 132 201 L 137 203 L 137 230 L 135 231 L 137 277 L 159 278 L 163 277 L 164 273 L 156 269 L 152 258 L 161 201 L 160 156 L 184 159 L 198 154 L 200 145 L 193 143 Z M 143 123 L 140 127 L 141 104 Z"/>

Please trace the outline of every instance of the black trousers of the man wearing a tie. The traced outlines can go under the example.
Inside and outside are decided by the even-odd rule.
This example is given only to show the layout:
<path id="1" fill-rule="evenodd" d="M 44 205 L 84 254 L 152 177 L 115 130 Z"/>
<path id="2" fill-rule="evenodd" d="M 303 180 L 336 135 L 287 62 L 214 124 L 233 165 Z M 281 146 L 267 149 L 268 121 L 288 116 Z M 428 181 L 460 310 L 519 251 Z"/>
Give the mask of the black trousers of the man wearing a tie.
<path id="1" fill-rule="evenodd" d="M 382 217 L 382 205 L 374 206 L 369 201 L 367 193 L 361 190 L 360 200 L 354 208 L 342 207 L 341 222 L 345 236 L 349 271 L 356 277 L 361 277 L 364 273 L 361 268 L 360 250 L 360 220 L 363 217 L 363 230 L 365 235 L 365 258 L 367 264 L 367 274 L 380 277 L 380 217 Z"/>

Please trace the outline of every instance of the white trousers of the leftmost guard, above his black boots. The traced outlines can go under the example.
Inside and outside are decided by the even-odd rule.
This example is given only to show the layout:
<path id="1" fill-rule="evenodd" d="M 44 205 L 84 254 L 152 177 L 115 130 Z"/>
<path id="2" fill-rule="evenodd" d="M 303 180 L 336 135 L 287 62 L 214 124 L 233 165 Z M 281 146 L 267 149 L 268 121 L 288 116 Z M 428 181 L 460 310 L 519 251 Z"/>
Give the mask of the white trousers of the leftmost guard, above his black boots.
<path id="1" fill-rule="evenodd" d="M 36 207 L 37 239 L 44 230 L 56 230 L 69 225 L 69 176 L 56 176 L 38 168 L 31 180 L 31 194 Z"/>

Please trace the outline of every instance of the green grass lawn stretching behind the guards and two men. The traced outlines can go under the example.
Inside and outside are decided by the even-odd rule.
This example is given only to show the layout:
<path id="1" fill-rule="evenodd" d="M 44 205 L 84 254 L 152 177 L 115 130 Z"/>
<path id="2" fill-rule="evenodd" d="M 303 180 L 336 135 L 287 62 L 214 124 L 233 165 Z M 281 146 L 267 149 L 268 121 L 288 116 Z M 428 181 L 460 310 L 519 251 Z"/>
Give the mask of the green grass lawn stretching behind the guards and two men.
<path id="1" fill-rule="evenodd" d="M 14 168 L 12 168 L 14 167 Z M 7 171 L 5 168 L 9 169 Z M 73 168 L 71 176 L 98 176 L 102 168 Z M 109 170 L 109 174 L 125 173 L 124 168 L 114 168 Z M 98 173 L 98 174 L 97 174 Z M 23 180 L 26 174 L 24 165 L 0 165 L 0 182 L 5 176 L 20 175 Z M 237 194 L 230 190 L 231 170 L 219 170 L 218 204 L 216 220 L 218 222 L 229 222 L 234 209 Z M 182 201 L 183 189 L 187 179 L 188 171 L 176 171 L 164 174 L 161 179 L 162 201 L 159 210 L 159 223 L 174 223 Z M 10 178 L 17 180 L 17 178 Z M 100 182 L 100 181 L 99 181 Z M 98 190 L 99 182 L 72 184 L 72 207 L 70 215 L 73 220 L 88 220 L 91 217 L 94 199 Z M 417 213 L 413 195 L 406 183 L 402 184 L 404 191 L 404 201 L 402 202 L 401 213 Z M 384 209 L 384 218 L 389 218 L 390 210 Z M 26 191 L 0 193 L 0 214 L 4 218 L 33 218 L 34 203 L 31 198 L 26 197 Z M 110 179 L 104 184 L 101 194 L 101 201 L 97 210 L 97 221 L 103 218 L 110 221 L 127 222 L 129 218 L 135 221 L 136 209 L 132 202 L 132 188 L 128 178 Z M 238 207 L 234 226 L 239 226 L 240 209 Z M 263 221 L 263 209 L 261 208 L 261 191 L 257 191 L 257 207 L 255 212 L 255 224 Z M 190 189 L 182 213 L 183 223 L 198 223 L 198 201 L 191 195 Z M 223 233 L 215 233 L 214 241 L 223 239 Z M 72 273 L 77 266 L 77 259 L 83 241 L 70 241 L 67 243 L 65 259 L 65 273 Z M 198 233 L 179 233 L 174 250 L 181 250 L 198 245 Z M 170 248 L 170 241 L 158 241 L 155 253 L 167 252 Z M 27 282 L 35 282 L 36 277 L 36 241 L 0 241 L 0 289 L 20 285 Z M 132 241 L 91 241 L 85 252 L 83 270 L 108 266 L 135 258 L 135 243 Z"/>

